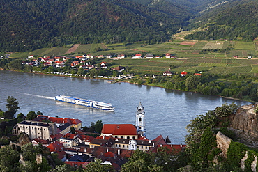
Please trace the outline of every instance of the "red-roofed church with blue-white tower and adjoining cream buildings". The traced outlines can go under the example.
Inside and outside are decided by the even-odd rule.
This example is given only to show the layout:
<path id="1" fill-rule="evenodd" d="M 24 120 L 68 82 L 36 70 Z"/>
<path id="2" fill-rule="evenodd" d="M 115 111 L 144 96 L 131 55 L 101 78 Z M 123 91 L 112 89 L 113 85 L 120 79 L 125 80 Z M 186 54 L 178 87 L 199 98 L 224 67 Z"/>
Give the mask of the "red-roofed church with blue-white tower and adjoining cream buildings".
<path id="1" fill-rule="evenodd" d="M 149 140 L 145 136 L 145 111 L 142 103 L 139 102 L 136 111 L 136 121 L 133 124 L 104 124 L 100 136 L 89 143 L 89 148 L 106 146 L 110 148 L 126 150 L 142 150 L 155 152 L 158 147 L 165 146 L 172 148 L 168 137 L 163 139 L 160 135 L 156 139 Z M 184 147 L 180 145 L 181 148 Z"/>

